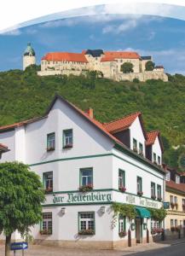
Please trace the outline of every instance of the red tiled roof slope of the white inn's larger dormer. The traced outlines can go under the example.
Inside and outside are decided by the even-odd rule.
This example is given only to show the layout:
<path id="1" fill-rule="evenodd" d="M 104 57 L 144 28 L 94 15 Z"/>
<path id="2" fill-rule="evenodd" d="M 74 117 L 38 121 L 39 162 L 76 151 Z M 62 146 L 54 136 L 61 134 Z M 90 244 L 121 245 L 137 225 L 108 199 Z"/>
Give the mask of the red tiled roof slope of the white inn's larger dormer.
<path id="1" fill-rule="evenodd" d="M 124 131 L 130 127 L 135 119 L 141 115 L 141 112 L 131 113 L 121 119 L 113 120 L 110 123 L 103 124 L 108 132 L 116 133 L 118 131 Z"/>

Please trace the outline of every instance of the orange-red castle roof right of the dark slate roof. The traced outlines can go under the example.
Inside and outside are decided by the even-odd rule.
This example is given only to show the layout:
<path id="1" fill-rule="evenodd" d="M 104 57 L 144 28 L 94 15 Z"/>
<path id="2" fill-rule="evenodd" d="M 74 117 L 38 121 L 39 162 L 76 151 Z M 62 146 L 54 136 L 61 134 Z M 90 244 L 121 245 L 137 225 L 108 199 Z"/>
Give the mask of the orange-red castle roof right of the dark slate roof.
<path id="1" fill-rule="evenodd" d="M 140 55 L 131 51 L 105 51 L 101 61 L 115 61 L 116 59 L 140 59 Z"/>

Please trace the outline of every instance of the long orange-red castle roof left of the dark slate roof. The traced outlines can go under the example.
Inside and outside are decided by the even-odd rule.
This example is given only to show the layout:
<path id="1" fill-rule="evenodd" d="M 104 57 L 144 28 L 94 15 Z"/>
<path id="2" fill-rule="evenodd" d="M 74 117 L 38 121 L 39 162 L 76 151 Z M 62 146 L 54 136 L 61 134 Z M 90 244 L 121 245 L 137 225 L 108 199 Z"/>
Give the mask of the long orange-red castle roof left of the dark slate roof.
<path id="1" fill-rule="evenodd" d="M 76 61 L 76 62 L 85 62 L 84 53 L 70 53 L 70 52 L 50 52 L 47 55 L 44 55 L 42 60 L 44 61 Z"/>

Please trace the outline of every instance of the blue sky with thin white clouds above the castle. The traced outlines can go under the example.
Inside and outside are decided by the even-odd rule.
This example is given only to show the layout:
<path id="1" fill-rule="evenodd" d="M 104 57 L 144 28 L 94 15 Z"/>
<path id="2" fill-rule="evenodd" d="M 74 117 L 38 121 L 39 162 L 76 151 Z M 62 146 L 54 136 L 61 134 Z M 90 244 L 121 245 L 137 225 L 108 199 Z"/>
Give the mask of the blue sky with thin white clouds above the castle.
<path id="1" fill-rule="evenodd" d="M 130 50 L 152 55 L 166 73 L 185 74 L 185 21 L 150 15 L 91 15 L 48 21 L 0 34 L 0 71 L 22 68 L 26 44 L 37 63 L 52 51 Z"/>

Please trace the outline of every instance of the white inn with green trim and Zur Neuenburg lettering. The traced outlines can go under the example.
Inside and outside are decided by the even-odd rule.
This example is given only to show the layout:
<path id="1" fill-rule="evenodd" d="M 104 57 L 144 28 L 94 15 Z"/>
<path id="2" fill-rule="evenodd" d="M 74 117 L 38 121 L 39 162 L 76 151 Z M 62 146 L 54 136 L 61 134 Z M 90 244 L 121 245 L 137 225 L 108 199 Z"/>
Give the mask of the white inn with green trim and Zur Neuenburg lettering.
<path id="1" fill-rule="evenodd" d="M 10 149 L 0 162 L 22 161 L 43 180 L 46 201 L 43 222 L 32 229 L 35 241 L 96 248 L 152 241 L 146 207 L 162 207 L 165 172 L 147 160 L 147 140 L 142 113 L 101 124 L 92 109 L 84 113 L 61 96 L 43 117 L 0 127 L 0 141 Z M 134 205 L 137 218 L 113 225 L 113 202 Z"/>

